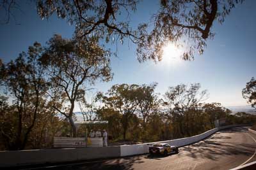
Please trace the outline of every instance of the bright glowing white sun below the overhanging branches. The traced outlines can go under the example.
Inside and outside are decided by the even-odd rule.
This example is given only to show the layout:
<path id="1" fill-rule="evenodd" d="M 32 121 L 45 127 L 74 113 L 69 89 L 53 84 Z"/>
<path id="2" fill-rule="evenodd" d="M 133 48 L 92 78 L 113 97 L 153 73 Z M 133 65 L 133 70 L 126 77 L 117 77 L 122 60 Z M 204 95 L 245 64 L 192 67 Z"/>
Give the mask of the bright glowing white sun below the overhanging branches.
<path id="1" fill-rule="evenodd" d="M 161 62 L 165 64 L 177 64 L 180 62 L 180 55 L 182 54 L 182 50 L 177 46 L 173 45 L 173 43 L 167 43 L 163 46 L 163 56 Z"/>

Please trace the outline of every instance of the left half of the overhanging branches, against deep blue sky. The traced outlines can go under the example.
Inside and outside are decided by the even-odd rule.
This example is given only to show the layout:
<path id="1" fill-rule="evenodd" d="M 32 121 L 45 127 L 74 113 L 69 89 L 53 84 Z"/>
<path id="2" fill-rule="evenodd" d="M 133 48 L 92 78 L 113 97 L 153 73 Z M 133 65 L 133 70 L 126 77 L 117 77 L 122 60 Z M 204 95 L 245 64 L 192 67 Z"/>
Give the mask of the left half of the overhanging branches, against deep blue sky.
<path id="1" fill-rule="evenodd" d="M 76 24 L 76 36 L 88 38 L 95 36 L 105 39 L 113 37 L 137 39 L 138 33 L 132 31 L 129 21 L 118 20 L 118 15 L 125 11 L 127 15 L 136 10 L 136 0 L 106 1 L 44 1 L 38 0 L 38 15 L 42 18 L 51 17 L 56 13 L 59 18 L 67 18 L 70 24 Z"/>

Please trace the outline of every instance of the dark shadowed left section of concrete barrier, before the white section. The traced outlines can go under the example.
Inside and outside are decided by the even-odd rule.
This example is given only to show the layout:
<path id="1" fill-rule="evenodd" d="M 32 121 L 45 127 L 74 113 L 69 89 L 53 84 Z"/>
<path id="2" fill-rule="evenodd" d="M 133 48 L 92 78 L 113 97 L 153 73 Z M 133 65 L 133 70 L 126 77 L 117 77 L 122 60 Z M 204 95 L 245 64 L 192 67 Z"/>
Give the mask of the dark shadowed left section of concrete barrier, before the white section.
<path id="1" fill-rule="evenodd" d="M 0 167 L 120 157 L 119 146 L 1 151 Z"/>

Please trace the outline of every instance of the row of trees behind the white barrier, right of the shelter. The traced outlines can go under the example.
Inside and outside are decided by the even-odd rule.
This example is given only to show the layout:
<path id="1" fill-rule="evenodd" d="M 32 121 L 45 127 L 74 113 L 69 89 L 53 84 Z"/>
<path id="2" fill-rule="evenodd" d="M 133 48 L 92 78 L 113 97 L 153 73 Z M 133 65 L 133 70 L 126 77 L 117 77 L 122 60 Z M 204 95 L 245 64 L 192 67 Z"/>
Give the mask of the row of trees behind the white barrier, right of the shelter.
<path id="1" fill-rule="evenodd" d="M 170 87 L 165 101 L 155 94 L 156 85 L 114 85 L 106 95 L 98 94 L 103 105 L 97 114 L 109 120 L 115 139 L 120 134 L 129 141 L 184 138 L 213 128 L 214 120 L 229 118 L 230 111 L 220 103 L 201 103 L 207 91 L 200 92 L 199 83 Z"/>

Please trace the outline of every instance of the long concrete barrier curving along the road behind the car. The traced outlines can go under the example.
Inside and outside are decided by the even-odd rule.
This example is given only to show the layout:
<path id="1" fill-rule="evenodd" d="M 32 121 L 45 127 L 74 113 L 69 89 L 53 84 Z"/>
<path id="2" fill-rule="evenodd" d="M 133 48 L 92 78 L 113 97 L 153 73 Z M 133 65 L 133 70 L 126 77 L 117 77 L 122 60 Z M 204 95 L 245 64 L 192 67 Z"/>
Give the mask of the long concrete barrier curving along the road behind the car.
<path id="1" fill-rule="evenodd" d="M 225 127 L 214 128 L 189 138 L 159 141 L 157 143 L 169 143 L 170 145 L 176 145 L 179 147 L 186 146 L 205 139 L 215 132 L 220 131 L 221 129 L 239 126 L 246 125 L 228 125 Z M 148 153 L 148 147 L 152 144 L 153 143 L 143 143 L 139 145 L 108 146 L 97 148 L 60 148 L 45 150 L 0 151 L 0 167 L 139 155 Z"/>

